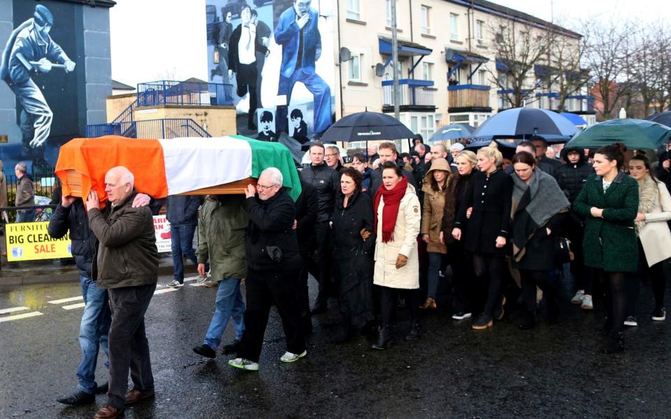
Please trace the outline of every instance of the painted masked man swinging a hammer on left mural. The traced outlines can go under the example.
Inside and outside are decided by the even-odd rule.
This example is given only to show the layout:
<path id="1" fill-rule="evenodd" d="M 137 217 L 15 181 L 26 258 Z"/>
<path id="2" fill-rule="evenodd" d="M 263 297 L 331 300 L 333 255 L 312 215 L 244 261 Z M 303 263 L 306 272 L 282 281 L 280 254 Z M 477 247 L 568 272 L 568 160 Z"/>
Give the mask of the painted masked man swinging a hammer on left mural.
<path id="1" fill-rule="evenodd" d="M 75 69 L 74 61 L 49 36 L 53 26 L 50 10 L 41 4 L 35 6 L 33 17 L 10 35 L 0 63 L 0 78 L 23 107 L 20 118 L 23 154 L 34 161 L 43 159 L 53 113 L 31 75 L 49 73 L 52 68 L 63 68 L 66 73 Z"/>

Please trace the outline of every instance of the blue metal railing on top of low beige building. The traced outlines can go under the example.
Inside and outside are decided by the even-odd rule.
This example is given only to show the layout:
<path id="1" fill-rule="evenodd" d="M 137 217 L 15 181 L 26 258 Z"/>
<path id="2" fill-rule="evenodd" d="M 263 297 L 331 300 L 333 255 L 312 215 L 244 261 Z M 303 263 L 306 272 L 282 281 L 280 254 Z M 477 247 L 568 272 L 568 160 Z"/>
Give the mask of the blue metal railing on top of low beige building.
<path id="1" fill-rule="evenodd" d="M 138 84 L 138 106 L 233 105 L 233 85 L 159 80 Z"/>

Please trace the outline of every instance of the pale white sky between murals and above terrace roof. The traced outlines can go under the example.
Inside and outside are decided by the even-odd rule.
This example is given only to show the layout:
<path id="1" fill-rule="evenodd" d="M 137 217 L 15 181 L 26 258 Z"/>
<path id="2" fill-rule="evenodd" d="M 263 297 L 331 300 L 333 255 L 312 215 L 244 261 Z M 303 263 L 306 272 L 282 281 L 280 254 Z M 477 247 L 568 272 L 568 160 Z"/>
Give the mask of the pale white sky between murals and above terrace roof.
<path id="1" fill-rule="evenodd" d="M 110 10 L 114 80 L 135 86 L 153 80 L 207 79 L 205 0 L 116 1 Z M 652 24 L 671 17 L 670 0 L 492 1 L 577 31 L 579 22 L 593 18 Z"/>

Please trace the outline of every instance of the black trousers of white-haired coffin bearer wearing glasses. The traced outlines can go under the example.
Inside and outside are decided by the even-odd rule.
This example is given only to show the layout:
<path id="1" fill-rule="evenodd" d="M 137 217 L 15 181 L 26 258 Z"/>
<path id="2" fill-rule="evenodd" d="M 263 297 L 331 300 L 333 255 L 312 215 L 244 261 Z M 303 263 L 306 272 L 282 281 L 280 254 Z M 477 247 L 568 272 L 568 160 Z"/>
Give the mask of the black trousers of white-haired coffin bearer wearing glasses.
<path id="1" fill-rule="evenodd" d="M 268 325 L 270 306 L 275 304 L 282 319 L 287 351 L 305 351 L 305 337 L 301 327 L 301 312 L 296 302 L 296 277 L 299 270 L 247 269 L 247 311 L 245 311 L 245 333 L 240 342 L 238 356 L 259 362 L 261 347 Z"/>

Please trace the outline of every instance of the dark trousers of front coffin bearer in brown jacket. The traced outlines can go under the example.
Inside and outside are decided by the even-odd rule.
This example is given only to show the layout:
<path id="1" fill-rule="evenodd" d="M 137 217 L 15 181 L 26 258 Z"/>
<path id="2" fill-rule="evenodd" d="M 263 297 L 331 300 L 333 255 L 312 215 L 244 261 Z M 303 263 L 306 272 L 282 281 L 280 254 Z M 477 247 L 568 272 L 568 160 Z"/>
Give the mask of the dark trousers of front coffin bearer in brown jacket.
<path id="1" fill-rule="evenodd" d="M 131 371 L 133 388 L 154 392 L 149 342 L 145 335 L 145 312 L 156 290 L 156 284 L 110 288 L 110 390 L 108 404 L 124 408 Z"/>

